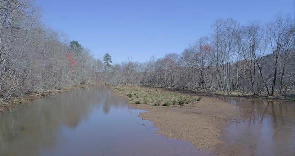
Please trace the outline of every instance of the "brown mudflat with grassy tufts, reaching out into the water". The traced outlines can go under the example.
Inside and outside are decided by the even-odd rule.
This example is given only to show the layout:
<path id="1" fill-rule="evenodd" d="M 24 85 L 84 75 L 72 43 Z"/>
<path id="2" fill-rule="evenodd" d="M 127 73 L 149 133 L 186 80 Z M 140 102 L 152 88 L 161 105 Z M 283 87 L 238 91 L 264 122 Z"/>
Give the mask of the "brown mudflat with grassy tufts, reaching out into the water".
<path id="1" fill-rule="evenodd" d="M 157 134 L 187 140 L 201 150 L 222 143 L 223 127 L 238 117 L 232 104 L 205 96 L 134 85 L 114 90 L 133 107 L 148 111 L 139 116 L 152 121 L 160 129 Z"/>

